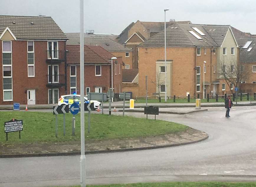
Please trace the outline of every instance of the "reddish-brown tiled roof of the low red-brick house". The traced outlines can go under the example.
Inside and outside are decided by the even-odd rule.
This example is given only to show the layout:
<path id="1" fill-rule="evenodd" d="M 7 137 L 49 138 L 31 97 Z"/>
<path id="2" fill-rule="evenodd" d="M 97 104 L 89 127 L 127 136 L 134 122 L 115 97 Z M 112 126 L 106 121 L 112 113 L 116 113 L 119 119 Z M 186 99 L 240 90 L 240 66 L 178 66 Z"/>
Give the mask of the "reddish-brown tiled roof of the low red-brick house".
<path id="1" fill-rule="evenodd" d="M 80 64 L 80 46 L 67 45 L 67 64 Z M 101 46 L 84 46 L 84 64 L 110 64 L 113 55 Z"/>

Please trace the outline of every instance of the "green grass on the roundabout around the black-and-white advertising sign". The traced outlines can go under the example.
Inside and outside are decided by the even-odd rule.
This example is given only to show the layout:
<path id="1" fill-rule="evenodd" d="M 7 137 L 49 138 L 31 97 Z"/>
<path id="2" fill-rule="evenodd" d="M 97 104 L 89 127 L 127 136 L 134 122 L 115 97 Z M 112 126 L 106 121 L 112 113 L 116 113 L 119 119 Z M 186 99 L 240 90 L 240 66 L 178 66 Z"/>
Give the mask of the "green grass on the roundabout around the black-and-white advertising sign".
<path id="1" fill-rule="evenodd" d="M 0 143 L 33 143 L 45 141 L 79 141 L 80 140 L 80 113 L 76 115 L 76 136 L 72 134 L 72 115 L 65 114 L 66 136 L 63 136 L 63 114 L 58 115 L 58 138 L 55 138 L 55 115 L 44 112 L 30 111 L 1 111 L 0 112 Z M 4 133 L 4 122 L 12 118 L 23 120 L 21 139 L 19 132 L 8 133 L 8 141 Z M 189 127 L 162 120 L 134 118 L 129 116 L 114 116 L 91 114 L 91 128 L 88 133 L 88 114 L 85 114 L 86 139 L 114 139 L 155 136 L 167 133 L 186 131 Z"/>

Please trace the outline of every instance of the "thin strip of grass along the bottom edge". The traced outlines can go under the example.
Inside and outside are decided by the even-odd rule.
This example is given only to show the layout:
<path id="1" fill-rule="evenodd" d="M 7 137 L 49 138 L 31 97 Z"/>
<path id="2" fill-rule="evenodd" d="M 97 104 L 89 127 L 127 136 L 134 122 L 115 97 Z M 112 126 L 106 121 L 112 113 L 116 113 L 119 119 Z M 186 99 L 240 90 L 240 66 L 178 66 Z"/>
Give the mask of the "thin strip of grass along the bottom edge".
<path id="1" fill-rule="evenodd" d="M 171 183 L 134 183 L 111 185 L 86 185 L 88 187 L 254 187 L 252 183 L 224 183 L 224 182 L 171 182 Z M 80 187 L 80 186 L 70 186 Z"/>

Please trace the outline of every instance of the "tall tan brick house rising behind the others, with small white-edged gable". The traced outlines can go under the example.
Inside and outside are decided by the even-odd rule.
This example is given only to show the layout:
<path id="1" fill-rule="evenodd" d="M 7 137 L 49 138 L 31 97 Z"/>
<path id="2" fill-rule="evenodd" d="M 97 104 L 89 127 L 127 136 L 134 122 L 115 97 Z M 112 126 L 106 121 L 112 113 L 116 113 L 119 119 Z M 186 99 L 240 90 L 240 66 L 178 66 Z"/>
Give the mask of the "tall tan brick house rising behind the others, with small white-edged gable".
<path id="1" fill-rule="evenodd" d="M 167 21 L 166 26 L 173 25 L 175 23 L 191 23 L 190 21 Z M 116 37 L 116 41 L 120 44 L 125 45 L 133 50 L 133 66 L 131 69 L 138 69 L 138 49 L 137 45 L 154 36 L 155 34 L 164 30 L 164 22 L 147 22 L 147 21 L 136 21 L 132 22 L 127 26 L 120 34 Z"/>

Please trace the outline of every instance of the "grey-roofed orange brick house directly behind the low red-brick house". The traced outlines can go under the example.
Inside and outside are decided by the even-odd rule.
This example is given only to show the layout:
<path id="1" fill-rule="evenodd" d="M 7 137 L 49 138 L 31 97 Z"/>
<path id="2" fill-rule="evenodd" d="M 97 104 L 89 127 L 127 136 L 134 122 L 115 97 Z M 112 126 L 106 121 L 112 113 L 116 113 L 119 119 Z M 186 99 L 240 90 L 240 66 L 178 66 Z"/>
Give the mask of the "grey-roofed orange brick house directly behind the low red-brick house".
<path id="1" fill-rule="evenodd" d="M 67 45 L 79 45 L 80 34 L 79 33 L 66 33 L 68 37 Z M 133 51 L 130 48 L 125 47 L 122 44 L 114 41 L 115 35 L 104 34 L 85 34 L 85 45 L 98 45 L 103 47 L 106 51 L 110 52 L 116 57 L 121 57 L 124 62 L 122 69 L 130 69 L 133 66 Z"/>

